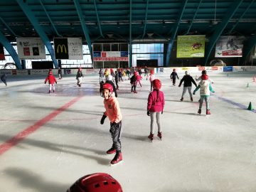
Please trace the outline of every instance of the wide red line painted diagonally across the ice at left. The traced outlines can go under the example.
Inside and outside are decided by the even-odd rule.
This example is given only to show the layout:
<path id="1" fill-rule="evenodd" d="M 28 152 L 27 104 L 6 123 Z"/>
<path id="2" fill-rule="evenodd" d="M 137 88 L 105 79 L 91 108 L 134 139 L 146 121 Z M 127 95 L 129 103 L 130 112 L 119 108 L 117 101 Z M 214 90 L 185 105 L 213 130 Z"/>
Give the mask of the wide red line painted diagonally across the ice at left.
<path id="1" fill-rule="evenodd" d="M 22 132 L 19 132 L 18 134 L 16 134 L 16 136 L 14 136 L 11 139 L 9 139 L 8 141 L 4 142 L 4 144 L 1 144 L 0 145 L 0 155 L 4 154 L 6 151 L 11 149 L 11 147 L 16 146 L 16 144 L 21 142 L 23 139 L 26 139 L 26 137 L 28 137 L 29 134 L 32 134 L 33 132 L 36 132 L 37 129 L 42 127 L 44 124 L 49 122 L 51 119 L 56 117 L 61 112 L 63 112 L 66 109 L 68 109 L 68 107 L 73 105 L 75 102 L 78 102 L 78 100 L 80 100 L 80 98 L 81 98 L 81 96 L 75 97 L 73 100 L 71 100 L 70 102 L 66 103 L 62 107 L 58 108 L 57 110 L 53 111 L 52 113 L 48 114 L 43 119 L 39 120 L 38 122 L 36 122 L 35 124 L 31 125 L 30 127 L 26 128 Z"/>

